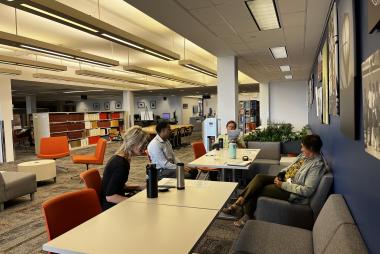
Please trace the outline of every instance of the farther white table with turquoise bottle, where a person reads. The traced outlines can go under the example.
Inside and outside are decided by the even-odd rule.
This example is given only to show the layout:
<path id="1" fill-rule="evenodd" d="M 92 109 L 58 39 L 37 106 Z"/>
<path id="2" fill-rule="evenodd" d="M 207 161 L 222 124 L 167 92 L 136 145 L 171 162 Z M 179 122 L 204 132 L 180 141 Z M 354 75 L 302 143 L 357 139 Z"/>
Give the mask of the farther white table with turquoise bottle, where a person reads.
<path id="1" fill-rule="evenodd" d="M 232 178 L 235 181 L 235 169 L 247 170 L 249 164 L 245 166 L 238 165 L 229 165 L 229 164 L 238 164 L 243 162 L 242 157 L 248 156 L 249 163 L 252 163 L 257 155 L 259 154 L 260 149 L 243 149 L 238 148 L 236 150 L 236 159 L 230 159 L 228 149 L 220 150 L 211 150 L 205 155 L 199 157 L 198 159 L 190 162 L 189 167 L 206 167 L 206 168 L 221 168 L 221 169 L 232 169 Z M 223 177 L 222 177 L 223 178 Z"/>

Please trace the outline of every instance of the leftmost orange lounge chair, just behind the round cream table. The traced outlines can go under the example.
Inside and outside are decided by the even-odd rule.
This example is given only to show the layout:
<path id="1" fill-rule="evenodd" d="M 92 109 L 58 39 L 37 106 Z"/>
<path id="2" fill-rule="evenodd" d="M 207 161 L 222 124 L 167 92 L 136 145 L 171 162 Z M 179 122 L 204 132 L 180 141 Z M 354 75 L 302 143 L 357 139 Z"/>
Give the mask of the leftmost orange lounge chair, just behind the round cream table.
<path id="1" fill-rule="evenodd" d="M 40 139 L 40 152 L 37 154 L 38 158 L 57 160 L 69 155 L 69 140 L 67 136 L 44 137 Z M 61 168 L 67 170 L 64 167 Z"/>

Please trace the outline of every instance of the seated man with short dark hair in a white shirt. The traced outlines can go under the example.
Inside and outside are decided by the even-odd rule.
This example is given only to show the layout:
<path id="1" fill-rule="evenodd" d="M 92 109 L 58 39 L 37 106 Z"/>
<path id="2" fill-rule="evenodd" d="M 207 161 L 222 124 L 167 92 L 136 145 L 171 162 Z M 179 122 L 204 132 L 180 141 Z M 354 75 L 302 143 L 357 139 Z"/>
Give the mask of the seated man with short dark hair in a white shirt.
<path id="1" fill-rule="evenodd" d="M 180 162 L 174 155 L 170 144 L 170 125 L 168 122 L 160 122 L 156 125 L 157 135 L 148 145 L 148 153 L 153 164 L 158 169 L 158 179 L 175 178 L 177 163 Z M 195 179 L 198 170 L 185 168 L 185 178 Z"/>

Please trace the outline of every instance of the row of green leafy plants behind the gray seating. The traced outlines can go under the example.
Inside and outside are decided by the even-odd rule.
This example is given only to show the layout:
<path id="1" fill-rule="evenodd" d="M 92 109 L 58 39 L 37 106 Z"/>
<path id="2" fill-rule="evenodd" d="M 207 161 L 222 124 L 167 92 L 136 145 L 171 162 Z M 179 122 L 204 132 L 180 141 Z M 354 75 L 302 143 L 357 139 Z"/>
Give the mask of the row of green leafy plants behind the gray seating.
<path id="1" fill-rule="evenodd" d="M 293 125 L 290 123 L 272 123 L 263 130 L 255 130 L 244 136 L 244 141 L 257 142 L 289 142 L 301 140 L 307 135 L 307 127 L 301 131 L 293 131 Z"/>

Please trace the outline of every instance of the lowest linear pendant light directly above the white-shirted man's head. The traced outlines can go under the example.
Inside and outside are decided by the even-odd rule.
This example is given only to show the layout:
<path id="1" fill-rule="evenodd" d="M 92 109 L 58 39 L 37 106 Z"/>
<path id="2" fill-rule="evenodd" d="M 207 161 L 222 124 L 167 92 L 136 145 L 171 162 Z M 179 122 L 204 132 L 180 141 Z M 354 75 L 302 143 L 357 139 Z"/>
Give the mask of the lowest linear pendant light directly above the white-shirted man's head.
<path id="1" fill-rule="evenodd" d="M 116 80 L 116 81 L 129 82 L 132 84 L 155 86 L 155 87 L 164 87 L 164 88 L 176 87 L 176 86 L 168 85 L 168 84 L 161 84 L 161 83 L 151 82 L 151 81 L 147 81 L 147 80 L 128 78 L 125 76 L 108 74 L 108 73 L 97 72 L 97 71 L 90 71 L 90 70 L 76 70 L 75 74 L 82 75 L 82 76 L 88 76 L 88 77 L 94 77 L 94 78 L 103 78 L 103 79 L 111 79 L 111 80 Z"/>

